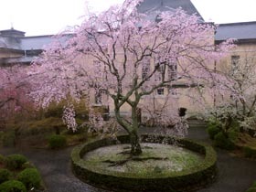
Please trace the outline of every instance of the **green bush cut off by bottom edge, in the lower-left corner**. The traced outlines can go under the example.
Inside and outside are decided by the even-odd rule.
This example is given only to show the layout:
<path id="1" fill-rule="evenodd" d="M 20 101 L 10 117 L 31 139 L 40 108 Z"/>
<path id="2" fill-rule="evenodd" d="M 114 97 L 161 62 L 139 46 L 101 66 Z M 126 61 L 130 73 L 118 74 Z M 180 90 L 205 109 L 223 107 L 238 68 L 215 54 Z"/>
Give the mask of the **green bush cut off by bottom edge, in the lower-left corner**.
<path id="1" fill-rule="evenodd" d="M 27 189 L 20 181 L 9 180 L 0 185 L 0 192 L 27 192 Z"/>

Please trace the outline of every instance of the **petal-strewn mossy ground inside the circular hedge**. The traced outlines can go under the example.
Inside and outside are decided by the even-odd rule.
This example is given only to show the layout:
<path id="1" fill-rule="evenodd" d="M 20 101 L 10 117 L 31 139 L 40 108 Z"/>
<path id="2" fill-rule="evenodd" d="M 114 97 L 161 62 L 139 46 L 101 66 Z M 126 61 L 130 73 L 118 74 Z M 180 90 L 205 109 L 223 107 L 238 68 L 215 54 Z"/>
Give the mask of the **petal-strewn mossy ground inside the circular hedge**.
<path id="1" fill-rule="evenodd" d="M 129 144 L 116 144 L 93 150 L 83 159 L 94 171 L 137 176 L 172 175 L 193 169 L 203 161 L 203 156 L 176 145 L 144 143 L 142 146 L 143 154 L 139 156 L 126 153 Z"/>

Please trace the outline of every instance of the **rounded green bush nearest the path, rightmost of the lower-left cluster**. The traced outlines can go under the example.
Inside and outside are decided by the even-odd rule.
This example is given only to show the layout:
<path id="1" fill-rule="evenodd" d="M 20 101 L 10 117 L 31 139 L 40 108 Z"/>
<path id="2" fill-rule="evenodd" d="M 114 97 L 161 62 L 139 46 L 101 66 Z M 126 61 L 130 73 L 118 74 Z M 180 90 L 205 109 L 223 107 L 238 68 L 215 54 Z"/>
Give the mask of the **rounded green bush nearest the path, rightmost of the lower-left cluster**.
<path id="1" fill-rule="evenodd" d="M 41 176 L 36 168 L 27 168 L 17 175 L 17 180 L 22 182 L 27 190 L 30 190 L 32 187 L 40 187 Z"/>

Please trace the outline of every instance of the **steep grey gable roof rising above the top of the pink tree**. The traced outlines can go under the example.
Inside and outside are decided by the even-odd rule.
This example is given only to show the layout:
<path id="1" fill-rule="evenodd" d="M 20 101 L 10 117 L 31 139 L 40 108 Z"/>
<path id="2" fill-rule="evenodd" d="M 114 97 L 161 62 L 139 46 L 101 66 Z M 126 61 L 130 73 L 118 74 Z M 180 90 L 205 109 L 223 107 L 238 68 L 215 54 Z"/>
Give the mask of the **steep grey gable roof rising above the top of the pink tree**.
<path id="1" fill-rule="evenodd" d="M 144 0 L 137 9 L 141 13 L 149 14 L 157 12 L 158 14 L 163 11 L 168 11 L 181 7 L 188 15 L 196 14 L 203 20 L 203 17 L 197 11 L 197 8 L 191 3 L 190 0 Z M 156 15 L 157 16 L 157 15 Z"/>

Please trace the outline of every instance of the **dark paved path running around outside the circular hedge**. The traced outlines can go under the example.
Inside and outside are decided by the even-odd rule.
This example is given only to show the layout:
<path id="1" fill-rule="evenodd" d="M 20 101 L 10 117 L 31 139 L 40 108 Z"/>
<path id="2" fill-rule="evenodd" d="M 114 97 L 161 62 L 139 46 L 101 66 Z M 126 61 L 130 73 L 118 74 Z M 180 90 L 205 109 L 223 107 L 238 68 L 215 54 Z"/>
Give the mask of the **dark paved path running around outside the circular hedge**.
<path id="1" fill-rule="evenodd" d="M 151 132 L 145 129 L 143 132 Z M 191 139 L 210 144 L 205 125 L 192 122 L 188 136 Z M 34 163 L 43 176 L 48 188 L 46 192 L 106 192 L 91 187 L 76 178 L 70 168 L 70 152 L 72 147 L 64 150 L 1 148 L 0 154 L 8 155 L 19 153 L 26 155 Z M 256 180 L 256 161 L 234 157 L 228 152 L 217 149 L 218 153 L 218 180 L 211 186 L 198 192 L 245 192 Z"/>

